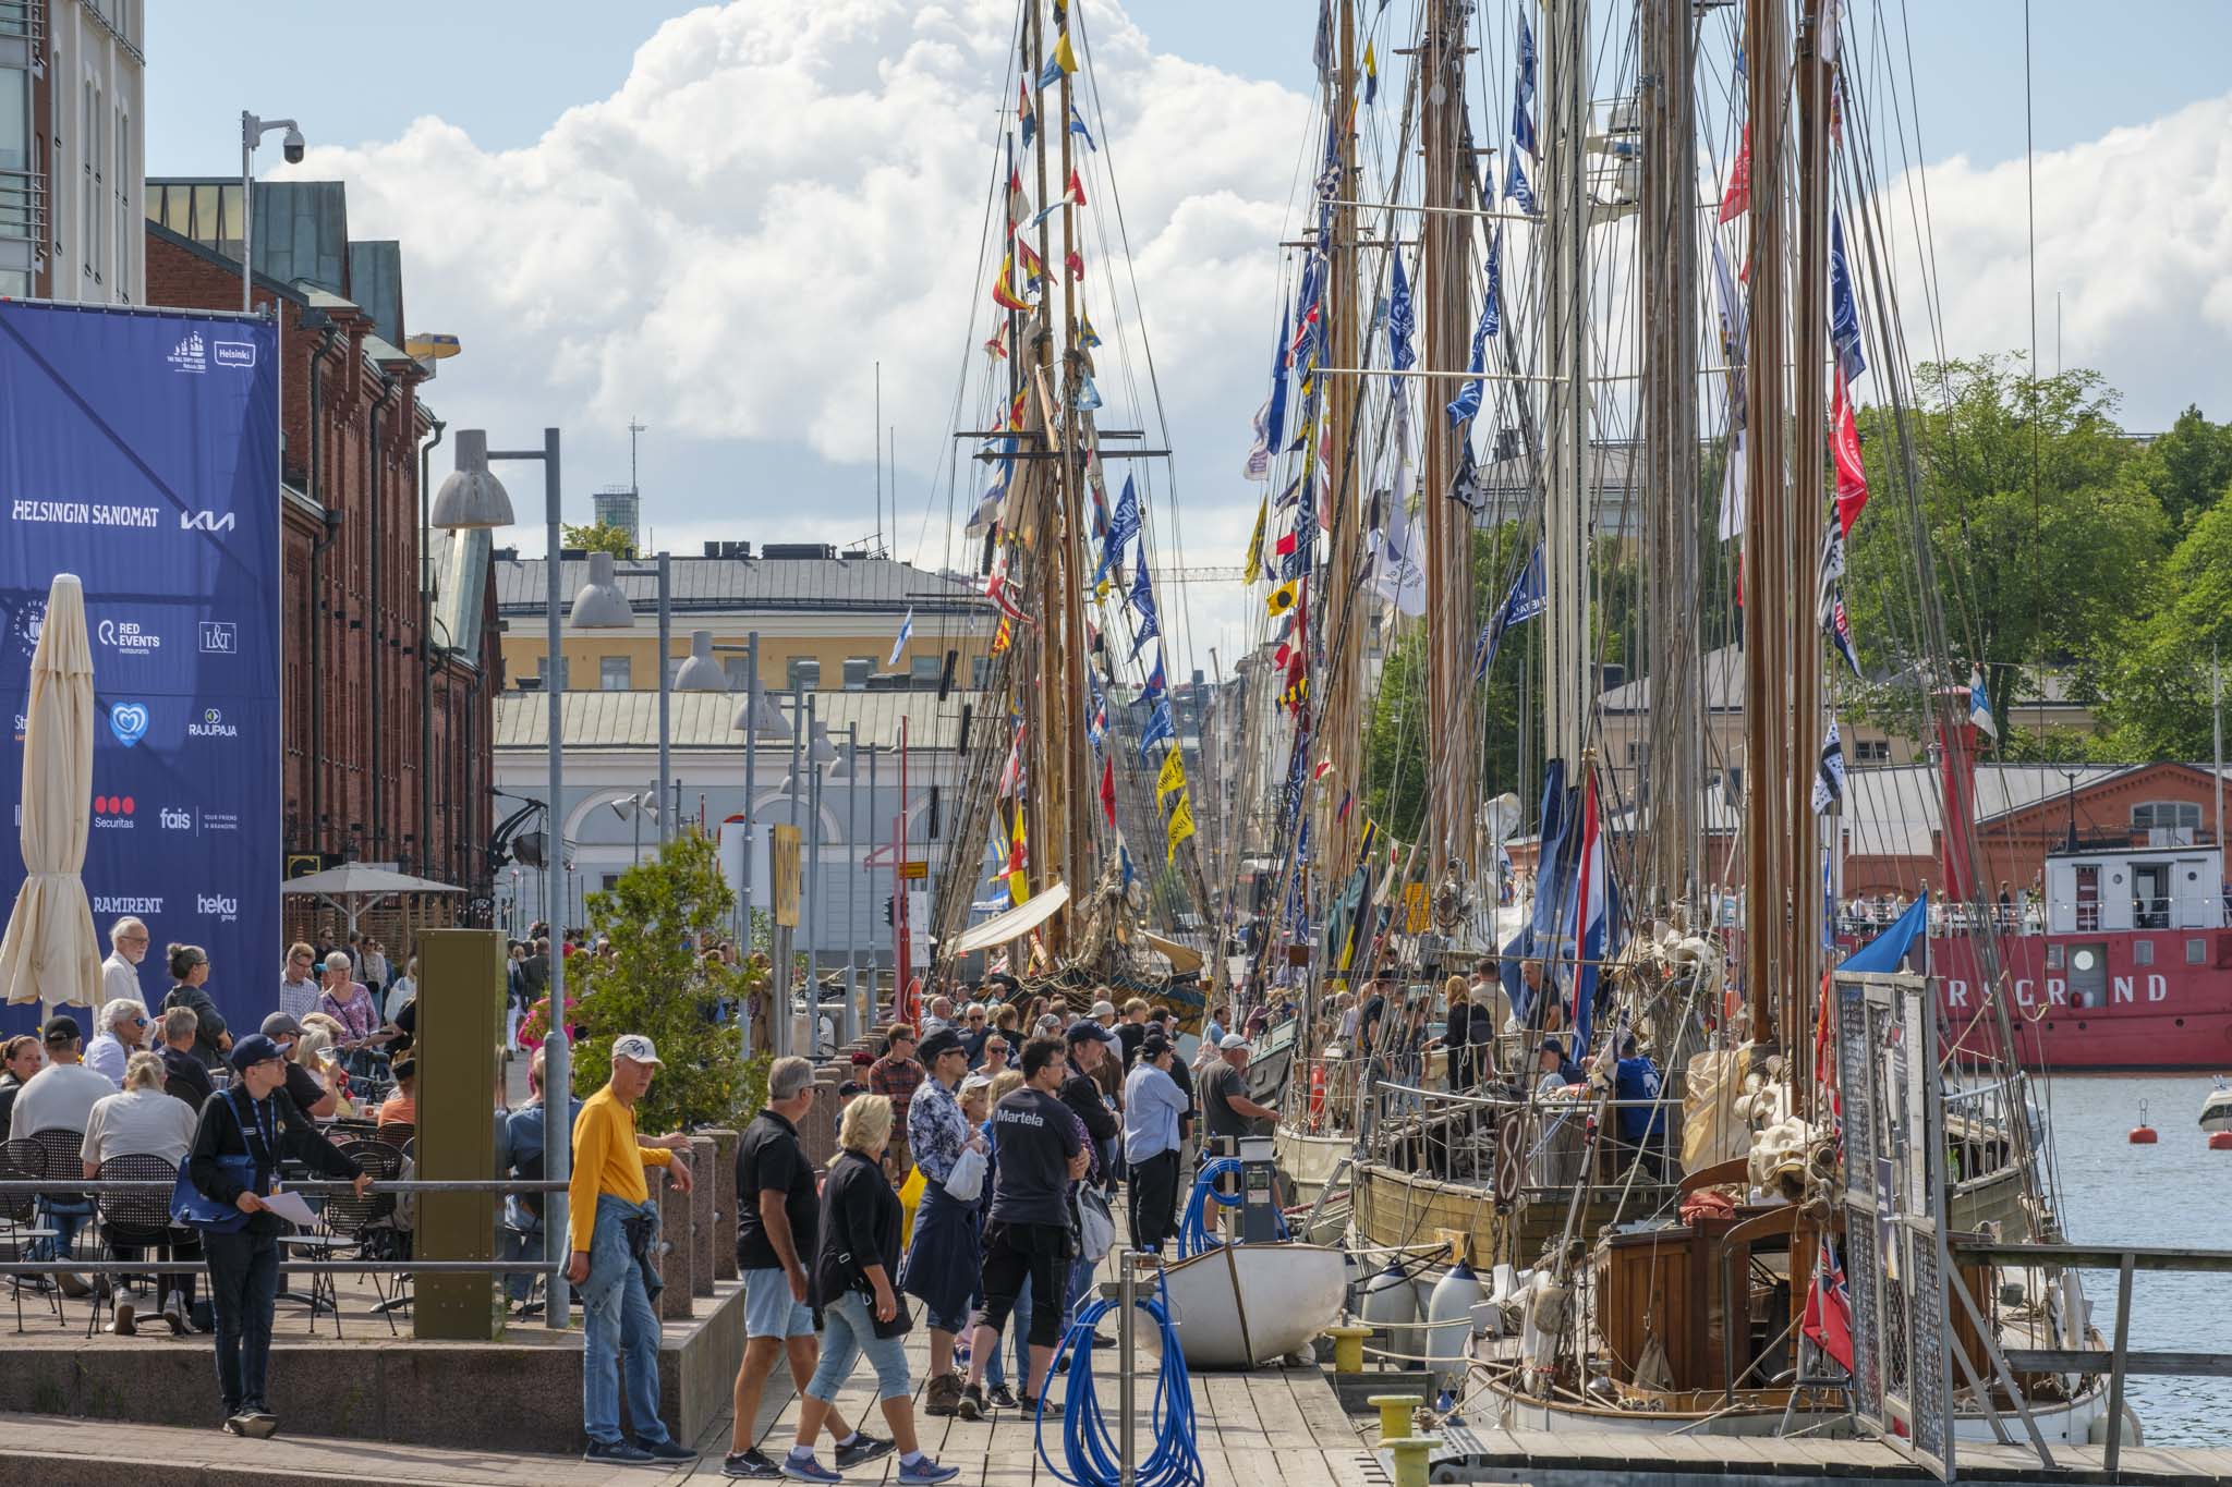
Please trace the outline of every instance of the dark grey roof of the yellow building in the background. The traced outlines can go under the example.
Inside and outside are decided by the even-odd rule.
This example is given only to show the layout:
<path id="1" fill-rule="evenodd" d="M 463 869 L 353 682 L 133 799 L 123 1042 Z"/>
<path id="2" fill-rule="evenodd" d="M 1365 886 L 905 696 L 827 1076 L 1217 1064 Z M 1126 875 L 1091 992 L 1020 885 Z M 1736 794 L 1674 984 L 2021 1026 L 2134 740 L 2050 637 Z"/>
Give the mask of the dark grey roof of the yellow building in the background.
<path id="1" fill-rule="evenodd" d="M 692 557 L 670 560 L 676 611 L 804 609 L 953 613 L 982 611 L 975 584 L 949 573 L 931 573 L 891 557 Z M 567 557 L 558 589 L 574 595 L 589 580 L 587 560 Z M 547 584 L 540 557 L 496 557 L 496 606 L 500 613 L 542 613 Z M 620 589 L 638 615 L 656 613 L 658 577 L 650 562 L 623 564 Z"/>

